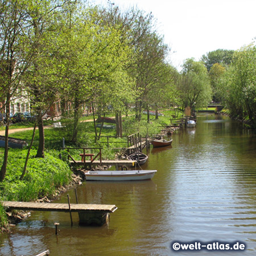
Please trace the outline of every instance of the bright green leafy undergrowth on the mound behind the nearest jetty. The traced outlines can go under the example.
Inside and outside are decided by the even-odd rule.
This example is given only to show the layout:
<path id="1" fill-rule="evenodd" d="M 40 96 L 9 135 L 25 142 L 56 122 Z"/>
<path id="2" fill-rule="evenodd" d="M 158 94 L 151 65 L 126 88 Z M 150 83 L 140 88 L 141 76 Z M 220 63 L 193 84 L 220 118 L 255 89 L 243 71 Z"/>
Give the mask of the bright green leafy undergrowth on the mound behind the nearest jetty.
<path id="1" fill-rule="evenodd" d="M 31 155 L 36 151 L 32 150 Z M 66 163 L 46 153 L 45 158 L 28 160 L 27 174 L 19 180 L 26 158 L 26 150 L 10 150 L 5 180 L 0 184 L 4 200 L 31 201 L 51 197 L 57 188 L 71 181 L 71 171 Z M 0 164 L 2 159 L 0 159 Z"/>

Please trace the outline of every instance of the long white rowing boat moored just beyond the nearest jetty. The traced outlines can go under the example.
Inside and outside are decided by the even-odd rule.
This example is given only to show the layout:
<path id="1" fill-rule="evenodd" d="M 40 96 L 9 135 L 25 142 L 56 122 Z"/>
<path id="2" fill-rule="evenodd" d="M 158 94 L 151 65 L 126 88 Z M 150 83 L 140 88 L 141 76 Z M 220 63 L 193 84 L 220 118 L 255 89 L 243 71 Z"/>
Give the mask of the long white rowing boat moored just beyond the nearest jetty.
<path id="1" fill-rule="evenodd" d="M 88 171 L 85 173 L 86 180 L 148 180 L 155 175 L 156 170 L 133 170 L 133 171 Z"/>

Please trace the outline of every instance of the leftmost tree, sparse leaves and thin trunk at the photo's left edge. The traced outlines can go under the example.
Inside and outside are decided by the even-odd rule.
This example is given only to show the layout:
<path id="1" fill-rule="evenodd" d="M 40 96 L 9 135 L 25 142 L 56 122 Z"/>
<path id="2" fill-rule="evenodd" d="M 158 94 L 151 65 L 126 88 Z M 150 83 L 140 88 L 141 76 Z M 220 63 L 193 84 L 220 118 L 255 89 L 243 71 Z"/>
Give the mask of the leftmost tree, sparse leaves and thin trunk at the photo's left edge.
<path id="1" fill-rule="evenodd" d="M 0 2 L 0 97 L 6 112 L 5 153 L 0 171 L 0 181 L 5 178 L 8 158 L 10 101 L 20 86 L 20 81 L 34 58 L 34 44 L 28 48 L 29 3 L 22 0 Z M 36 43 L 34 41 L 34 43 Z"/>

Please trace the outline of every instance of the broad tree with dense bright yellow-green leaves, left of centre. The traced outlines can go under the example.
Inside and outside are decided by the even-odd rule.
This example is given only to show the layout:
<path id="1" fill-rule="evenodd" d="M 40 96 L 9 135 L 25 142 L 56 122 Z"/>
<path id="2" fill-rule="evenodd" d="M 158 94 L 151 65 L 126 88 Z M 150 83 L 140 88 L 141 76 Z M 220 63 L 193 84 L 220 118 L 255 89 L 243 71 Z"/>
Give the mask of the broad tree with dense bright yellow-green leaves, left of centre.
<path id="1" fill-rule="evenodd" d="M 91 102 L 93 110 L 105 111 L 120 97 L 121 82 L 129 80 L 125 65 L 130 50 L 119 26 L 107 26 L 97 7 L 76 10 L 65 23 L 65 31 L 61 37 L 65 59 L 62 74 L 66 100 L 73 102 L 72 142 L 76 143 L 82 105 Z M 124 91 L 127 86 L 129 82 L 122 84 Z M 94 127 L 97 137 L 95 122 Z"/>

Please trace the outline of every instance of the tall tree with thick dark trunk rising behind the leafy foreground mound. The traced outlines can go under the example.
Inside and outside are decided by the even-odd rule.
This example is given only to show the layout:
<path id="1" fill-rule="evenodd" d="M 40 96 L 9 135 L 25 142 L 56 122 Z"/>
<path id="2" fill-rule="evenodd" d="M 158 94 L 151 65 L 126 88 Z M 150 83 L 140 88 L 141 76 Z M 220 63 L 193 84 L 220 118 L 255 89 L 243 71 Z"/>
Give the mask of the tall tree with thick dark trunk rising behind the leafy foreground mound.
<path id="1" fill-rule="evenodd" d="M 55 102 L 60 91 L 59 40 L 61 16 L 72 8 L 71 1 L 30 1 L 27 10 L 30 19 L 29 37 L 35 45 L 35 58 L 24 77 L 23 84 L 30 92 L 32 109 L 36 113 L 39 129 L 39 146 L 36 157 L 44 157 L 43 115 Z"/>

